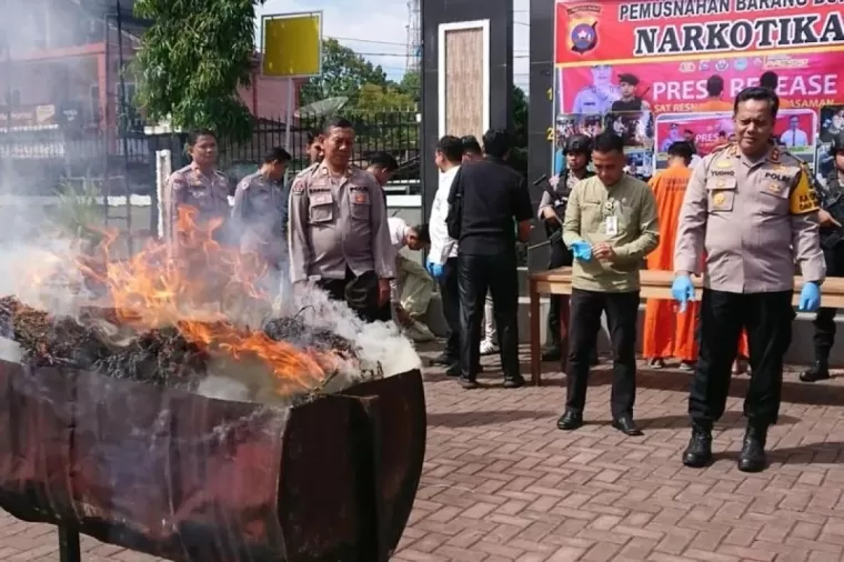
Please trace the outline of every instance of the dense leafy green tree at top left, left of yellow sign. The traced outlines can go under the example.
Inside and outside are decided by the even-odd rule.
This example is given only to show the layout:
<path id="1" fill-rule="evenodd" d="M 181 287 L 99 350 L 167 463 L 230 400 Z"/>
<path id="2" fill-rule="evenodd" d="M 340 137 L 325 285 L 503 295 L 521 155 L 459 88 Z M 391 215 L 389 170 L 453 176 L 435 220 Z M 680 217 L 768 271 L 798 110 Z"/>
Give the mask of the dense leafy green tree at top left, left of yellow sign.
<path id="1" fill-rule="evenodd" d="M 263 0 L 137 0 L 150 20 L 133 60 L 138 103 L 150 119 L 243 140 L 252 129 L 238 87 L 250 86 L 255 4 Z"/>

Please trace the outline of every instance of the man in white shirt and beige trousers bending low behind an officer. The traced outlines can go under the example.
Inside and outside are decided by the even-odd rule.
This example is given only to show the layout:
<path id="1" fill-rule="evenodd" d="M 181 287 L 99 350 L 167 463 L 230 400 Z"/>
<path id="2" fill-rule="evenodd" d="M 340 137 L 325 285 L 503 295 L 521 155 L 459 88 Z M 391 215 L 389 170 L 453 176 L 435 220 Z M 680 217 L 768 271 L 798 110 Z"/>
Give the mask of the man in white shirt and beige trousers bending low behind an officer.
<path id="1" fill-rule="evenodd" d="M 431 341 L 433 334 L 419 319 L 428 311 L 434 281 L 419 262 L 400 253 L 403 248 L 418 251 L 431 243 L 428 224 L 409 227 L 399 217 L 391 217 L 386 221 L 390 241 L 395 250 L 395 279 L 390 282 L 393 315 L 413 341 Z"/>

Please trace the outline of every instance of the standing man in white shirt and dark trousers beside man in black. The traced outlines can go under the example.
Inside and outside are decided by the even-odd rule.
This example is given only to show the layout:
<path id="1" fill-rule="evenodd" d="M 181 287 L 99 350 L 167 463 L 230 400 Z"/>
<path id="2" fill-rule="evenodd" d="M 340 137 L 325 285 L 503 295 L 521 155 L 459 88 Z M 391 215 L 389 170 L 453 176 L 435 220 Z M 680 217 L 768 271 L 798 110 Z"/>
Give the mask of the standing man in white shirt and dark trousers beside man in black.
<path id="1" fill-rule="evenodd" d="M 451 377 L 460 375 L 460 292 L 458 288 L 458 242 L 449 235 L 445 218 L 449 215 L 449 193 L 463 159 L 460 139 L 445 136 L 436 143 L 436 168 L 440 181 L 431 205 L 429 229 L 431 249 L 428 252 L 428 272 L 440 283 L 443 315 L 449 328 L 445 350 L 432 361 L 449 368 Z"/>

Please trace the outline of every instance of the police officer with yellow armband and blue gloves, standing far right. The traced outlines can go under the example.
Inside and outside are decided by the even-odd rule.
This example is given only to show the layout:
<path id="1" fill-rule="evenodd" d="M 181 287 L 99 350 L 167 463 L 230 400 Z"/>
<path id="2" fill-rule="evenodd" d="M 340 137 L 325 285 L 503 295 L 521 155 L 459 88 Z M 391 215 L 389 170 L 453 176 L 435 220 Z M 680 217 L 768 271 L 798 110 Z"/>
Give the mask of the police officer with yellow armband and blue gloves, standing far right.
<path id="1" fill-rule="evenodd" d="M 800 309 L 817 310 L 821 302 L 826 268 L 818 208 L 805 163 L 771 143 L 778 104 L 776 93 L 766 88 L 738 93 L 736 143 L 695 168 L 680 211 L 672 294 L 681 310 L 694 298 L 690 275 L 700 272 L 706 255 L 686 466 L 712 461 L 712 424 L 724 413 L 730 367 L 744 328 L 752 374 L 738 470 L 765 469 L 767 428 L 780 412 L 783 355 L 792 339 L 795 262 L 805 279 Z"/>

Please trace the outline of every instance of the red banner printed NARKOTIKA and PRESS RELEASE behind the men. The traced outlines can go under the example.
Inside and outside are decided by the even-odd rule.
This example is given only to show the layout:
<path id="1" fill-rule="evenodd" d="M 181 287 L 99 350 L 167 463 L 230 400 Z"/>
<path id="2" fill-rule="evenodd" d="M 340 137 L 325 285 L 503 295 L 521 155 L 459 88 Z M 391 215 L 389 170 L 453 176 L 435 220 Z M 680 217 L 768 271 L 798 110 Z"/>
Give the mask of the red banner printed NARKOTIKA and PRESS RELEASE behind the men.
<path id="1" fill-rule="evenodd" d="M 631 147 L 654 139 L 659 168 L 676 140 L 692 137 L 701 157 L 729 142 L 735 96 L 762 86 L 780 96 L 778 142 L 814 162 L 818 122 L 844 126 L 844 112 L 818 116 L 844 109 L 843 4 L 773 4 L 559 1 L 555 114 L 605 116 Z"/>

